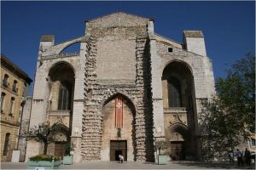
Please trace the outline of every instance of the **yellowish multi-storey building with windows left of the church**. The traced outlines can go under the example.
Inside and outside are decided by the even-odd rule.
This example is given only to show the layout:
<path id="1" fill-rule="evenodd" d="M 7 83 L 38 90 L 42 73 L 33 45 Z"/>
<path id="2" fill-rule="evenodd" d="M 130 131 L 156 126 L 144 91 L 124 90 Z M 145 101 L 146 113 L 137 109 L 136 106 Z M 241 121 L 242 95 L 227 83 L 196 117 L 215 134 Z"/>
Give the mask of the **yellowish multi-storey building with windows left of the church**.
<path id="1" fill-rule="evenodd" d="M 20 117 L 32 79 L 1 54 L 1 161 L 18 149 Z"/>

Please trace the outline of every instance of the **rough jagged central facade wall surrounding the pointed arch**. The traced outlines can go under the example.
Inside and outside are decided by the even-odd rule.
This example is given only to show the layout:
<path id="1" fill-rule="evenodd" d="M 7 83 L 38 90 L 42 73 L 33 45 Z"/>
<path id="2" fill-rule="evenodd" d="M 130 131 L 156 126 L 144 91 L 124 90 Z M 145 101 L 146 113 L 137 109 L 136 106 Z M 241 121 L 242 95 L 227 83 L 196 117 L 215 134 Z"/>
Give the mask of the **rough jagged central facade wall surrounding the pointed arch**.
<path id="1" fill-rule="evenodd" d="M 120 17 L 122 18 L 122 16 Z M 101 20 L 104 22 L 104 20 Z M 122 23 L 124 20 L 121 20 Z M 125 20 L 126 22 L 126 20 Z M 129 20 L 127 21 L 128 23 Z M 136 22 L 136 21 L 135 21 Z M 146 22 L 144 22 L 146 23 Z M 128 24 L 129 25 L 129 24 Z M 83 118 L 83 134 L 82 134 L 82 156 L 83 160 L 100 160 L 102 148 L 102 106 L 104 102 L 113 94 L 123 94 L 131 99 L 136 107 L 135 116 L 135 160 L 137 161 L 153 161 L 153 116 L 152 101 L 150 89 L 150 54 L 149 43 L 146 26 L 126 26 L 126 27 L 106 27 L 95 26 L 93 23 L 87 23 L 86 35 L 90 36 L 88 42 L 88 53 L 85 56 L 85 94 L 84 94 L 84 118 Z M 109 36 L 110 35 L 110 36 Z M 104 38 L 106 44 L 110 44 L 104 49 L 105 56 L 114 62 L 116 57 L 128 57 L 131 67 L 131 76 L 125 75 L 124 70 L 118 70 L 113 74 L 116 79 L 104 80 L 102 77 L 101 49 L 98 51 L 98 45 L 101 44 L 101 38 Z M 113 44 L 119 42 L 128 42 L 122 54 L 119 53 L 119 47 L 113 47 Z M 100 45 L 101 46 L 101 45 Z M 100 47 L 101 48 L 101 47 Z M 121 47 L 122 48 L 122 47 Z M 118 50 L 117 52 L 113 52 Z M 122 55 L 122 56 L 118 56 Z M 132 59 L 133 58 L 133 59 Z M 131 59 L 131 60 L 130 60 Z M 114 63 L 111 63 L 113 65 Z M 98 67 L 99 68 L 98 68 Z M 119 67 L 127 68 L 126 63 L 119 62 Z M 104 68 L 104 67 L 102 67 Z M 106 68 L 106 67 L 105 67 Z M 99 69 L 99 70 L 97 70 Z M 115 67 L 109 67 L 109 71 L 115 71 Z M 106 72 L 106 74 L 108 74 Z M 132 73 L 133 72 L 133 73 Z M 98 77 L 99 73 L 99 77 Z M 134 74 L 136 73 L 136 74 Z M 109 76 L 106 76 L 109 77 Z M 126 78 L 123 79 L 123 78 Z"/>

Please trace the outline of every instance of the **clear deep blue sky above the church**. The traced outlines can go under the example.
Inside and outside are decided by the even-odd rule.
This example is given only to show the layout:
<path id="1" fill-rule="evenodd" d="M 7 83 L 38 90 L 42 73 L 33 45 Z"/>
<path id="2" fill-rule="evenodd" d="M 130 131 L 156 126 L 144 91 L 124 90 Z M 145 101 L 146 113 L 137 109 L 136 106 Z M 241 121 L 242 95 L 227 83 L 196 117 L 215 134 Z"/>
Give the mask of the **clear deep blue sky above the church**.
<path id="1" fill-rule="evenodd" d="M 1 53 L 34 77 L 43 34 L 55 43 L 84 35 L 84 20 L 124 11 L 154 19 L 154 31 L 182 43 L 183 30 L 201 30 L 214 77 L 248 52 L 255 54 L 255 2 L 1 2 Z"/>

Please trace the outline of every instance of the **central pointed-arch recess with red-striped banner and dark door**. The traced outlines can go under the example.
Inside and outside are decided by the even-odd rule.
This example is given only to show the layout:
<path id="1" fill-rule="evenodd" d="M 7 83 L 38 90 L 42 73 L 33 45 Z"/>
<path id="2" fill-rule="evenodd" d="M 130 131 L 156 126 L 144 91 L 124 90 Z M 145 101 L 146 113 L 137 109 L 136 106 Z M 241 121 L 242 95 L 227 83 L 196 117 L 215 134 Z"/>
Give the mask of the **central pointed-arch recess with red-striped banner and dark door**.
<path id="1" fill-rule="evenodd" d="M 135 106 L 123 94 L 114 94 L 102 106 L 102 161 L 135 161 Z M 122 115 L 120 117 L 120 115 Z"/>

